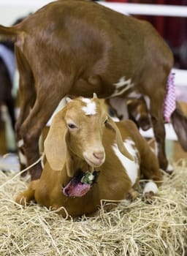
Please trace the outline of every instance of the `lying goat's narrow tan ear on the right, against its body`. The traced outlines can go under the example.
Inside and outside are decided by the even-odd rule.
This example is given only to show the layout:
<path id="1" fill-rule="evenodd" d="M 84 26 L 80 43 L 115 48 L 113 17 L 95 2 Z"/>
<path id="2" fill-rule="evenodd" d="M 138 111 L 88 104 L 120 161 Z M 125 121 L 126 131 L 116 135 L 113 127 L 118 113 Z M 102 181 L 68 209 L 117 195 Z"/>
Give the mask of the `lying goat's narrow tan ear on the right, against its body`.
<path id="1" fill-rule="evenodd" d="M 134 157 L 129 153 L 129 151 L 126 149 L 123 143 L 120 130 L 118 129 L 117 125 L 110 116 L 108 116 L 107 125 L 109 125 L 110 127 L 112 127 L 112 129 L 115 130 L 116 142 L 121 153 L 124 156 L 128 157 L 131 161 L 134 161 Z"/>

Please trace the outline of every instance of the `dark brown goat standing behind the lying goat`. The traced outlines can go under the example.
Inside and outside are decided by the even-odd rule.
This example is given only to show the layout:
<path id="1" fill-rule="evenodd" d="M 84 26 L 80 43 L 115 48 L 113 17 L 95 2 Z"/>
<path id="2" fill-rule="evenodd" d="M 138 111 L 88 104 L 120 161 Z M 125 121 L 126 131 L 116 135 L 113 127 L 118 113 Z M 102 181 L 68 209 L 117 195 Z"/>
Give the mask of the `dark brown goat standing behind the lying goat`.
<path id="1" fill-rule="evenodd" d="M 91 1 L 61 0 L 16 26 L 0 26 L 0 34 L 15 37 L 20 72 L 16 130 L 24 164 L 39 158 L 39 135 L 58 102 L 67 94 L 92 97 L 96 92 L 118 101 L 127 94 L 146 98 L 159 164 L 167 170 L 163 105 L 173 56 L 150 23 Z M 180 135 L 185 148 L 186 124 L 184 118 Z M 31 178 L 39 178 L 41 170 L 35 165 Z"/>

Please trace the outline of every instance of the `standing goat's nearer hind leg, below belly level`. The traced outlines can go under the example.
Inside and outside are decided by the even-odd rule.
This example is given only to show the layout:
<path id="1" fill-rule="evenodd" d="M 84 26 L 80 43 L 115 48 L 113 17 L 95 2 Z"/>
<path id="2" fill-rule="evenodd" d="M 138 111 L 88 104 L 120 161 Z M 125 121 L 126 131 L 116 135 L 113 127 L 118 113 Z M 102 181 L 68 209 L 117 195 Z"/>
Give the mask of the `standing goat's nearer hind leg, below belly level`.
<path id="1" fill-rule="evenodd" d="M 48 93 L 48 95 L 50 94 Z M 56 110 L 60 100 L 61 97 L 56 97 L 54 100 L 45 94 L 43 94 L 43 97 L 38 96 L 34 108 L 32 108 L 23 125 L 20 127 L 20 135 L 23 138 L 23 150 L 28 166 L 34 164 L 39 159 L 39 136 L 54 110 Z M 31 180 L 39 178 L 42 173 L 41 163 L 38 162 L 31 167 L 29 172 L 31 174 Z"/>

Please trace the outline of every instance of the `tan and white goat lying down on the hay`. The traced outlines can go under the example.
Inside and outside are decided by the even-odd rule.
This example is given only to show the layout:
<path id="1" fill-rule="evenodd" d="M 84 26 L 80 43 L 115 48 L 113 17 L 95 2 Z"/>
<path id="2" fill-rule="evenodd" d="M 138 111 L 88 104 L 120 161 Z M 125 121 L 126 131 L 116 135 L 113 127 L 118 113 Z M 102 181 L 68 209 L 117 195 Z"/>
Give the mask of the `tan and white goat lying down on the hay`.
<path id="1" fill-rule="evenodd" d="M 17 203 L 64 206 L 77 217 L 95 212 L 101 200 L 133 197 L 140 175 L 150 180 L 145 196 L 156 194 L 162 180 L 158 159 L 134 122 L 115 123 L 96 97 L 71 99 L 54 116 L 45 155 L 41 178 L 31 181 Z"/>

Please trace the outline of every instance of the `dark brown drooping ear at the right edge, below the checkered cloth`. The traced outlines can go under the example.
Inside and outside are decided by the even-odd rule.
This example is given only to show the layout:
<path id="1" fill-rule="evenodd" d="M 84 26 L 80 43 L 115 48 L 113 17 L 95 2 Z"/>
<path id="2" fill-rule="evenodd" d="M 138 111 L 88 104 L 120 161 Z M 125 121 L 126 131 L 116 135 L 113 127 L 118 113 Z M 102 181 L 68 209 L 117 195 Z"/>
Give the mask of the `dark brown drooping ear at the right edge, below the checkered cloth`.
<path id="1" fill-rule="evenodd" d="M 178 102 L 177 108 L 175 108 L 174 112 L 172 113 L 171 121 L 178 136 L 180 146 L 184 151 L 187 151 L 187 116 L 184 115 Z"/>

